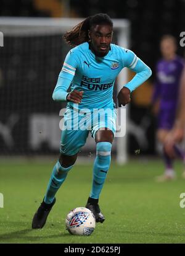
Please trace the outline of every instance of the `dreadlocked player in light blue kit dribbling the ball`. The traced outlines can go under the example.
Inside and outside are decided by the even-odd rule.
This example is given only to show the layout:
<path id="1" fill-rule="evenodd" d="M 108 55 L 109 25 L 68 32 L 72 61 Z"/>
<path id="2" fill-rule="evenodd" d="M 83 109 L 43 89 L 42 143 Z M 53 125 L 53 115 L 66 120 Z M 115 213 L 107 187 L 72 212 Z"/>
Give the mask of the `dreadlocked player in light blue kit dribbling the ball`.
<path id="1" fill-rule="evenodd" d="M 104 215 L 99 208 L 99 195 L 110 166 L 110 153 L 115 135 L 115 104 L 113 85 L 121 69 L 127 67 L 136 75 L 118 93 L 118 105 L 130 102 L 130 94 L 152 74 L 133 51 L 112 44 L 113 22 L 107 14 L 96 14 L 83 20 L 70 32 L 65 33 L 65 41 L 71 46 L 59 74 L 53 99 L 66 100 L 67 110 L 64 125 L 73 123 L 62 130 L 60 156 L 52 170 L 41 206 L 33 217 L 33 229 L 42 228 L 55 203 L 55 193 L 75 164 L 80 148 L 86 143 L 89 132 L 96 141 L 96 159 L 93 166 L 92 188 L 86 208 L 92 211 L 96 222 L 103 222 Z M 71 91 L 67 92 L 71 86 Z M 104 114 L 104 110 L 110 110 Z M 101 110 L 100 112 L 97 110 Z M 106 118 L 100 117 L 106 115 Z M 80 115 L 78 115 L 80 113 Z M 91 115 L 92 113 L 92 115 Z M 76 119 L 78 121 L 76 123 Z M 76 126 L 81 120 L 88 124 L 87 129 Z"/>

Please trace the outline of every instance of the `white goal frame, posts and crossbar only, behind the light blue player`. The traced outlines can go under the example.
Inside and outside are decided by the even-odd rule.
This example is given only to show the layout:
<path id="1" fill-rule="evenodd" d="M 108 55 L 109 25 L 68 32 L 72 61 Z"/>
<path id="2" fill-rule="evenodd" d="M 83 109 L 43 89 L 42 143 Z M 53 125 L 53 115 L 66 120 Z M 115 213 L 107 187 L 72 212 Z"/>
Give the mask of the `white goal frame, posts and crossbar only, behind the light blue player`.
<path id="1" fill-rule="evenodd" d="M 21 33 L 25 35 L 31 32 L 41 34 L 47 33 L 49 28 L 53 31 L 61 31 L 62 33 L 72 29 L 76 24 L 80 23 L 84 18 L 35 18 L 35 17 L 0 17 L 0 32 L 6 35 Z M 126 19 L 112 19 L 113 28 L 118 32 L 118 45 L 129 48 L 130 45 L 130 22 Z M 27 30 L 27 28 L 30 28 Z M 49 29 L 51 33 L 51 29 Z M 118 90 L 128 82 L 128 69 L 123 69 L 117 79 Z M 128 116 L 128 107 L 126 107 L 126 115 Z M 127 136 L 115 138 L 117 148 L 117 163 L 125 164 L 128 159 L 127 154 Z"/>

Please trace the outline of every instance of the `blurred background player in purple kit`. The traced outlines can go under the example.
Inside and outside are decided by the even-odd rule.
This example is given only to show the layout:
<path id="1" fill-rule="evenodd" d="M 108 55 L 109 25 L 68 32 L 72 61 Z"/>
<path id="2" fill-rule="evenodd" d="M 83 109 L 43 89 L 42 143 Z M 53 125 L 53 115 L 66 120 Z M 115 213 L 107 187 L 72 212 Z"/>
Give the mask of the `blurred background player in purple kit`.
<path id="1" fill-rule="evenodd" d="M 157 79 L 155 81 L 154 94 L 152 95 L 152 105 L 155 105 L 158 98 L 160 98 L 157 138 L 163 146 L 175 122 L 179 84 L 184 67 L 184 61 L 176 55 L 176 50 L 175 38 L 171 35 L 164 35 L 160 41 L 160 51 L 163 58 L 157 63 Z M 184 159 L 184 153 L 176 146 L 175 151 L 179 157 Z M 175 178 L 173 158 L 168 156 L 164 148 L 163 159 L 165 172 L 162 176 L 157 177 L 158 182 Z"/>

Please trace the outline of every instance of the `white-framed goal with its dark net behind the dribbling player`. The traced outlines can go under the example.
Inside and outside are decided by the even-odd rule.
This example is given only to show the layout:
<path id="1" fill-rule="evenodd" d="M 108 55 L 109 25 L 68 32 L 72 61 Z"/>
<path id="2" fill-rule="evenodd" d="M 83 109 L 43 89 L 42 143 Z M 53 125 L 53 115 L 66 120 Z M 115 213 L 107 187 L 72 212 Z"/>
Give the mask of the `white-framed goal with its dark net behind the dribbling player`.
<path id="1" fill-rule="evenodd" d="M 4 152 L 0 147 L 0 154 L 41 154 L 44 147 L 47 151 L 58 151 L 59 105 L 54 107 L 51 93 L 70 49 L 62 42 L 62 34 L 81 20 L 0 18 L 4 37 L 4 46 L 0 47 L 0 139 L 7 148 Z M 130 22 L 113 19 L 113 28 L 113 43 L 129 48 Z M 117 79 L 117 93 L 127 81 L 127 70 L 123 69 Z M 9 129 L 9 135 L 4 135 L 3 125 L 4 130 Z M 126 136 L 114 140 L 112 149 L 118 164 L 127 160 L 126 144 Z M 89 139 L 84 149 L 89 151 L 91 147 Z"/>

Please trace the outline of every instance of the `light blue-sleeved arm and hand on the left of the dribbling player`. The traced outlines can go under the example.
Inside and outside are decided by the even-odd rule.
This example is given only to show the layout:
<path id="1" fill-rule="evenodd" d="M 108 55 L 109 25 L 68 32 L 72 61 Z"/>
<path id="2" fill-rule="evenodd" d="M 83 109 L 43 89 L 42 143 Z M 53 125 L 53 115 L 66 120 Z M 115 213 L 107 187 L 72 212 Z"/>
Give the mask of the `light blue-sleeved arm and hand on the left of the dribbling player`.
<path id="1" fill-rule="evenodd" d="M 60 71 L 57 84 L 52 94 L 52 99 L 56 101 L 68 100 L 79 104 L 83 97 L 83 91 L 73 90 L 67 92 L 73 81 L 76 69 L 78 68 L 78 56 L 75 51 L 70 50 L 65 58 L 64 65 Z"/>

